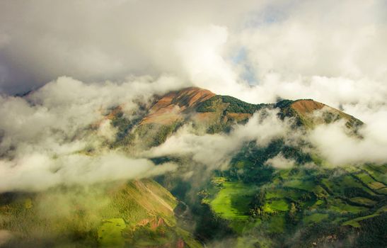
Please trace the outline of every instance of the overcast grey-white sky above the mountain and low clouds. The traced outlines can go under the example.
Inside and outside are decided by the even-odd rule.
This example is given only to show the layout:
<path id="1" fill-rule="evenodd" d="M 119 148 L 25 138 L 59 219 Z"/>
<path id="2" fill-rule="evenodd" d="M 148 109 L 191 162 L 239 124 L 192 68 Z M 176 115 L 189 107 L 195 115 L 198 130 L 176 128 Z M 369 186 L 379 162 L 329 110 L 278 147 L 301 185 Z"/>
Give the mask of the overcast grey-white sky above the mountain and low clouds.
<path id="1" fill-rule="evenodd" d="M 255 102 L 309 96 L 347 103 L 364 91 L 386 98 L 386 1 L 0 5 L 0 90 L 8 94 L 60 76 L 94 82 L 173 74 Z"/>

